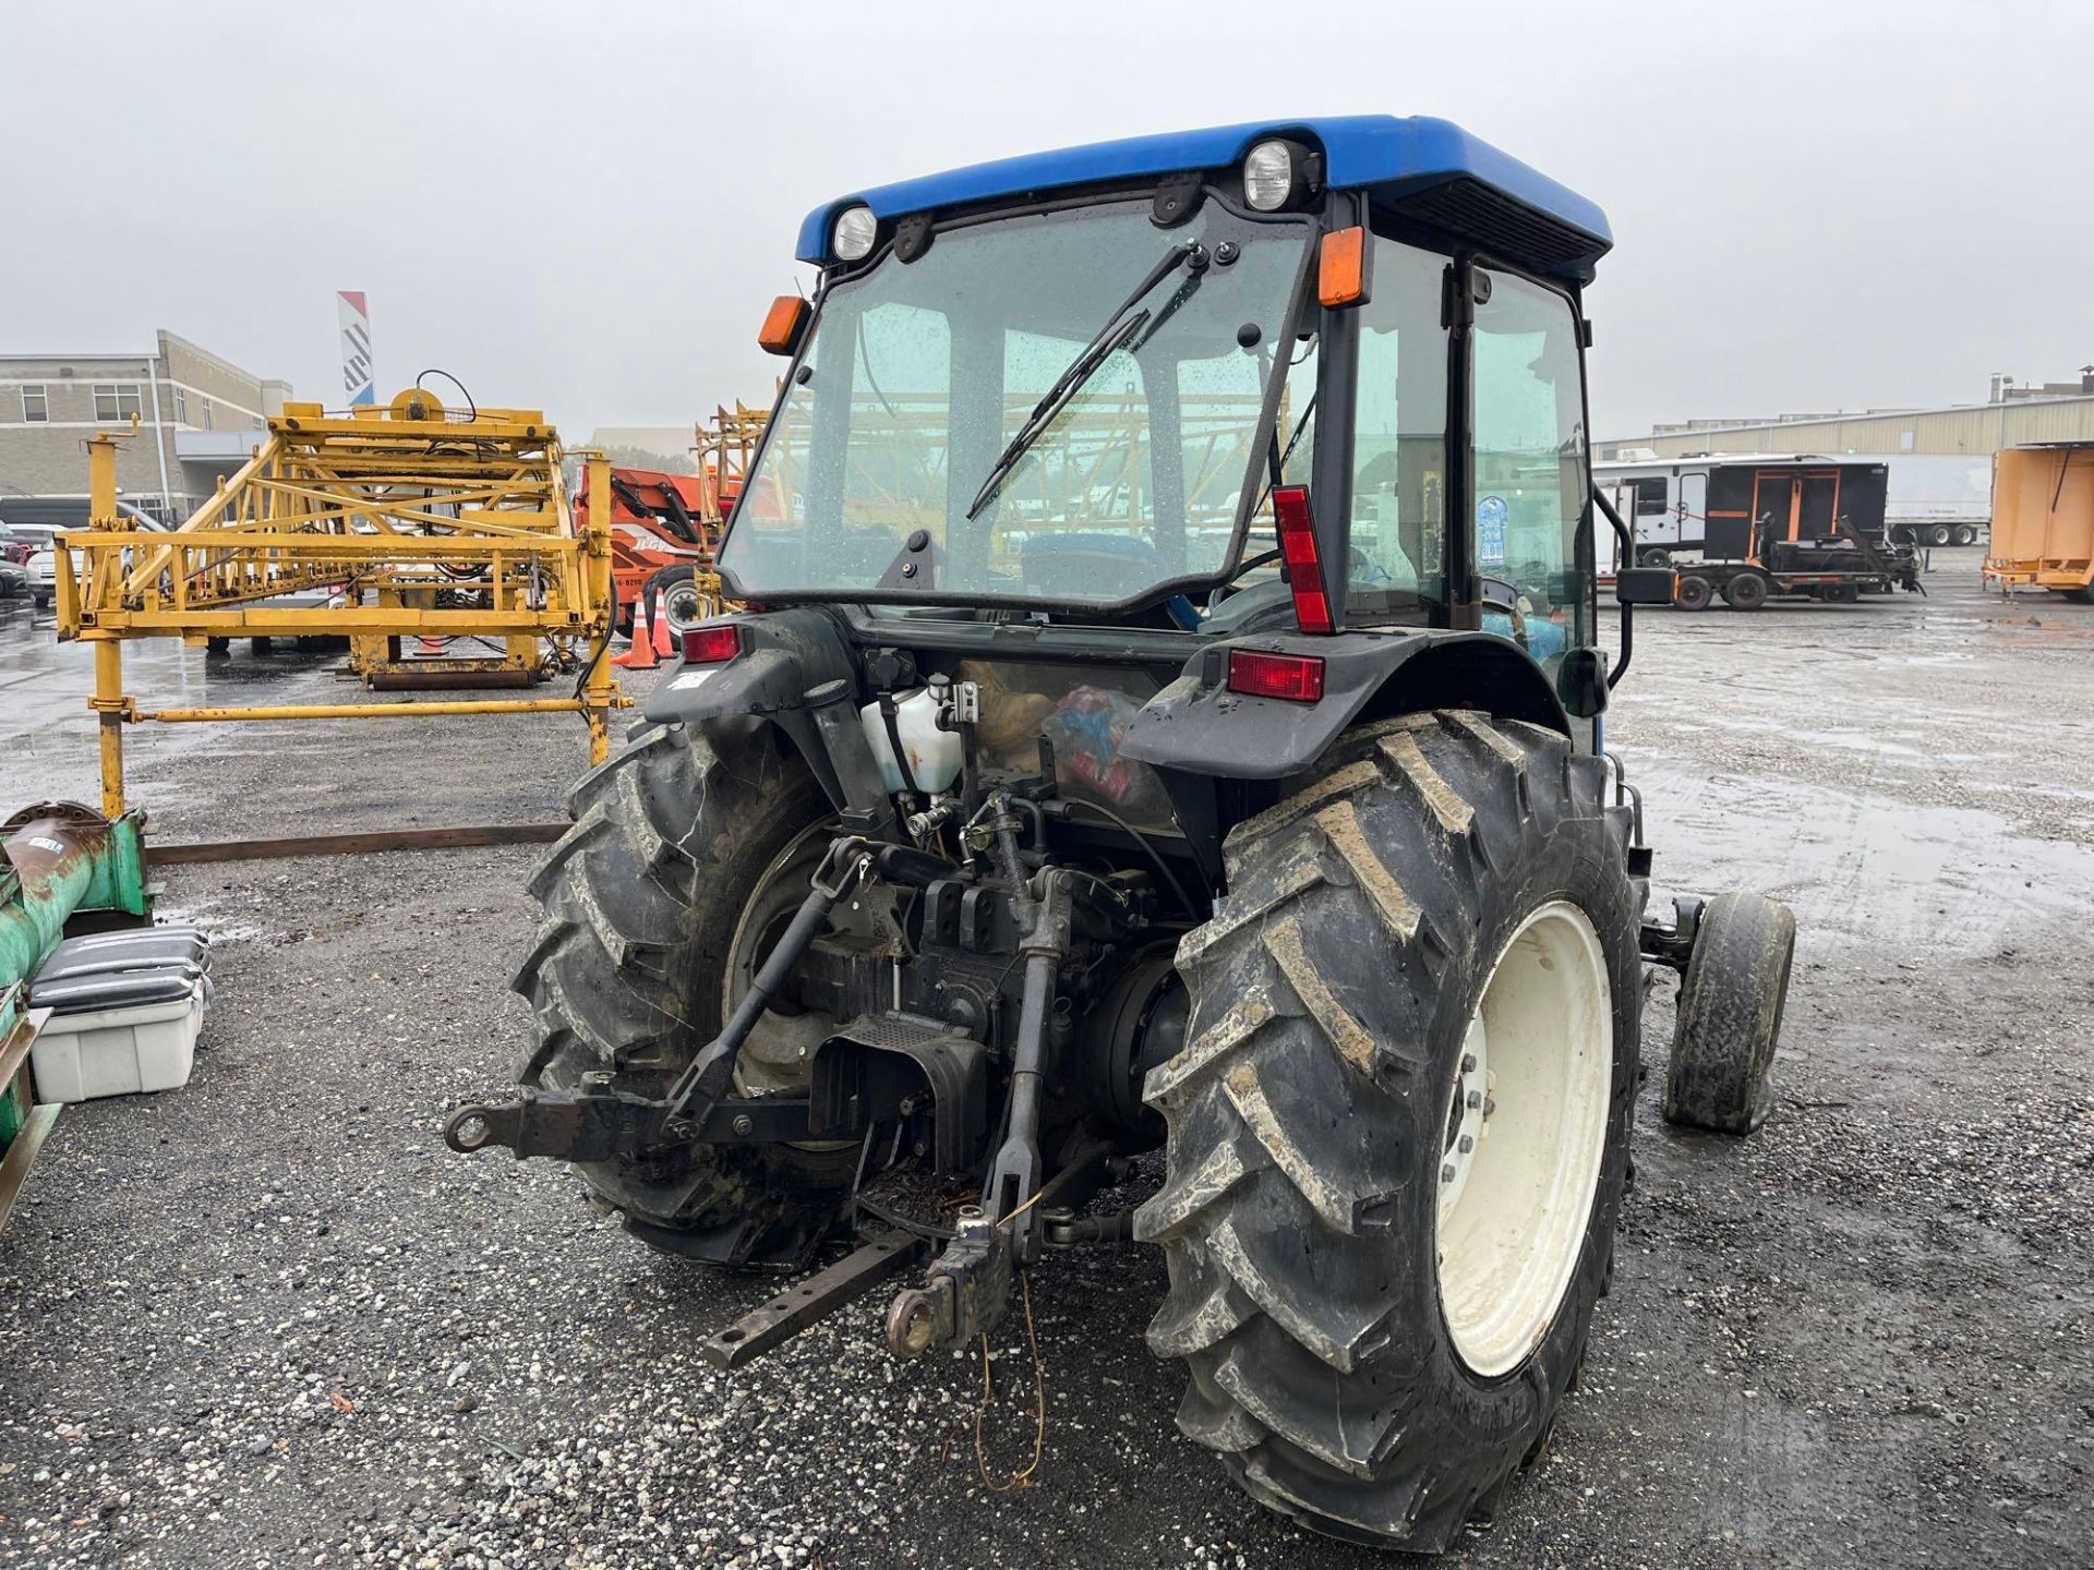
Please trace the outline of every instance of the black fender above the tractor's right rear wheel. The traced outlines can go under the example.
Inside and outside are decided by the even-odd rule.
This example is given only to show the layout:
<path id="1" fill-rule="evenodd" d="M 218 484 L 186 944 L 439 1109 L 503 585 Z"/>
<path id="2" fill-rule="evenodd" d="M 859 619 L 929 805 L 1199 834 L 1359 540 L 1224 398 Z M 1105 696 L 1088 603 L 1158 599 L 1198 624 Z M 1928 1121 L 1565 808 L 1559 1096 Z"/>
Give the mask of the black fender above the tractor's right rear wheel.
<path id="1" fill-rule="evenodd" d="M 1231 693 L 1229 649 L 1323 661 L 1323 697 Z M 1564 705 L 1518 645 L 1489 632 L 1346 632 L 1212 643 L 1127 726 L 1120 752 L 1154 768 L 1219 779 L 1286 779 L 1315 764 L 1359 720 L 1474 708 L 1570 733 Z"/>

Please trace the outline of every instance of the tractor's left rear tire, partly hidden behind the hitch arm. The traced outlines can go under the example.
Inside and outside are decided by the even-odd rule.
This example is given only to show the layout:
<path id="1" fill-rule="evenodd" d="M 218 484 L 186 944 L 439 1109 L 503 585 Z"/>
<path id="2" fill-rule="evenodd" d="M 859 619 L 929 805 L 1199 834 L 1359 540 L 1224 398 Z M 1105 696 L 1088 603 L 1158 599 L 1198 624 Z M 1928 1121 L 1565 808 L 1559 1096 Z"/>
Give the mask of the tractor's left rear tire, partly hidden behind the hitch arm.
<path id="1" fill-rule="evenodd" d="M 750 726 L 714 752 L 658 726 L 567 793 L 574 827 L 530 879 L 544 906 L 515 990 L 536 1047 L 517 1078 L 611 1072 L 662 1095 L 720 1028 L 735 923 L 779 850 L 827 812 L 806 766 Z M 674 1254 L 792 1266 L 836 1218 L 848 1160 L 781 1145 L 576 1164 L 626 1229 Z"/>

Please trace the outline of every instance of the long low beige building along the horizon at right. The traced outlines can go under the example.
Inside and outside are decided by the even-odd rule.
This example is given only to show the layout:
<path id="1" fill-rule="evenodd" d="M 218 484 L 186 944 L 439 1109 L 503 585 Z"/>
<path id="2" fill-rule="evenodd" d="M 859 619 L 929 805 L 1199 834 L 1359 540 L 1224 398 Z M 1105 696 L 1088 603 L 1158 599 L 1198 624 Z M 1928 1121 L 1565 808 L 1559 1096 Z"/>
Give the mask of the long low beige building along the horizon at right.
<path id="1" fill-rule="evenodd" d="M 2094 442 L 2094 366 L 2079 381 L 2033 387 L 1993 377 L 1983 404 L 1868 408 L 1857 414 L 1780 414 L 1656 425 L 1650 435 L 1594 444 L 1594 456 L 1679 458 L 1702 452 L 1815 452 L 1836 456 L 1979 456 L 2025 442 Z"/>

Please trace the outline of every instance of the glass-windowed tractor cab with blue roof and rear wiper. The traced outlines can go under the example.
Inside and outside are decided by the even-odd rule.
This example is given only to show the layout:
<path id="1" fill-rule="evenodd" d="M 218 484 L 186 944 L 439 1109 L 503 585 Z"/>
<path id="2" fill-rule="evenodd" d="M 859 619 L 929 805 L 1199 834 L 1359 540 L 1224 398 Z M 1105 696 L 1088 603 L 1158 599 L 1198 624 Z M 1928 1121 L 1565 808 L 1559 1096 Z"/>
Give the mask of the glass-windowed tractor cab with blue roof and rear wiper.
<path id="1" fill-rule="evenodd" d="M 764 605 L 1187 638 L 1594 636 L 1598 207 L 1436 119 L 1231 126 L 817 207 L 720 557 Z M 1449 521 L 1453 523 L 1449 528 Z M 1589 685 L 1589 678 L 1587 678 Z"/>

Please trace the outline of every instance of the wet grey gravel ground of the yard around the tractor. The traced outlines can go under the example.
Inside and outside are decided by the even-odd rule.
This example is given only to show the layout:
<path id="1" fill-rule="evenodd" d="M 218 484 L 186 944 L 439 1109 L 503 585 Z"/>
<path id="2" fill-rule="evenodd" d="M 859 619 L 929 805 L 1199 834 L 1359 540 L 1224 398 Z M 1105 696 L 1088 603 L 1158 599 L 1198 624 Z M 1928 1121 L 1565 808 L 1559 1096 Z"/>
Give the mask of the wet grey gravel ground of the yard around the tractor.
<path id="1" fill-rule="evenodd" d="M 1646 615 L 1610 731 L 1671 890 L 1803 921 L 1782 1107 L 1646 1095 L 1614 1292 L 1547 1461 L 1472 1566 L 2094 1562 L 2094 611 L 1926 601 Z M 77 651 L 0 615 L 0 804 L 92 800 Z M 314 657 L 136 691 L 333 691 Z M 168 839 L 521 821 L 559 720 L 134 741 Z M 972 1354 L 861 1302 L 737 1375 L 693 1342 L 771 1279 L 655 1256 L 547 1164 L 448 1156 L 505 1082 L 530 850 L 172 869 L 222 934 L 195 1080 L 73 1107 L 0 1237 L 0 1566 L 1384 1566 L 1181 1440 L 1150 1252 L 1037 1273 L 1030 1486 L 976 1461 Z M 1646 1017 L 1661 1066 L 1671 988 Z M 1654 1091 L 1654 1086 L 1652 1086 Z M 988 1478 L 1032 1453 L 995 1356 Z"/>

